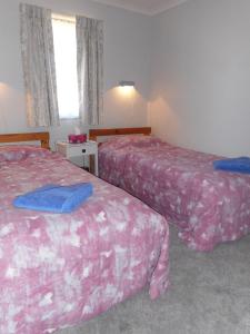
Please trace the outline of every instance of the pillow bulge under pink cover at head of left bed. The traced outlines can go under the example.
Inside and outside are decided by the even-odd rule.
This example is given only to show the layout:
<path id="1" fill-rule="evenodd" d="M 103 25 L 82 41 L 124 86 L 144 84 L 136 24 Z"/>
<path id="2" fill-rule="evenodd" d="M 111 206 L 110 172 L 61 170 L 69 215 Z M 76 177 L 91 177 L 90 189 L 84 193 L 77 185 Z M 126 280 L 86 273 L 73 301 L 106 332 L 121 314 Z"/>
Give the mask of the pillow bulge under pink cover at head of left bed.
<path id="1" fill-rule="evenodd" d="M 38 146 L 0 146 L 0 161 L 19 161 L 29 157 L 46 157 L 49 151 Z"/>

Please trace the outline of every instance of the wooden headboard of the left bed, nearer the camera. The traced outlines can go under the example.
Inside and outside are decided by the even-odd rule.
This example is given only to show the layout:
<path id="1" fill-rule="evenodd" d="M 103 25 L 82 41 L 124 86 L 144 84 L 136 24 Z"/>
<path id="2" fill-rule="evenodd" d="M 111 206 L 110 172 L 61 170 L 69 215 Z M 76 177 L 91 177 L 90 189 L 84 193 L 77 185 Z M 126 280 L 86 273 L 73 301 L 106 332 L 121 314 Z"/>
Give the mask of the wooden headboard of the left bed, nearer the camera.
<path id="1" fill-rule="evenodd" d="M 18 141 L 40 141 L 41 147 L 50 148 L 49 132 L 27 132 L 27 134 L 8 134 L 0 135 L 0 143 L 18 143 Z"/>

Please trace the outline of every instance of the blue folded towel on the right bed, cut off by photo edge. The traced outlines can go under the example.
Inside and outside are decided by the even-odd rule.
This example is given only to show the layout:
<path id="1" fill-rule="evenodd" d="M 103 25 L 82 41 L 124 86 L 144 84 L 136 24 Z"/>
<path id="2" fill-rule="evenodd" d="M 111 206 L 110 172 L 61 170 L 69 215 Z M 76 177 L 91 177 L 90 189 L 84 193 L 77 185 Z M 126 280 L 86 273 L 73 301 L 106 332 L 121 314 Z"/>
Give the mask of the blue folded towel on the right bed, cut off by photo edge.
<path id="1" fill-rule="evenodd" d="M 250 174 L 250 158 L 240 157 L 213 161 L 214 169 Z"/>

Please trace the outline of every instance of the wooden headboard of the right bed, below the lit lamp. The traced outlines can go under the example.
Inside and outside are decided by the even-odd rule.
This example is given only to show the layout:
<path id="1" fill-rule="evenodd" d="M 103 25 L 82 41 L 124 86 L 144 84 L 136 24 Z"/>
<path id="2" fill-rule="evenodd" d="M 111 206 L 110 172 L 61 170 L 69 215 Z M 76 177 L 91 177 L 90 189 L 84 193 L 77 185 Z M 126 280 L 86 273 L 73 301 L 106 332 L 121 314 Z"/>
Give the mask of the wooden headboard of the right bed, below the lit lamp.
<path id="1" fill-rule="evenodd" d="M 102 136 L 119 136 L 119 135 L 144 135 L 149 136 L 151 134 L 150 127 L 142 128 L 117 128 L 117 129 L 90 129 L 89 139 L 96 140 L 97 137 Z"/>

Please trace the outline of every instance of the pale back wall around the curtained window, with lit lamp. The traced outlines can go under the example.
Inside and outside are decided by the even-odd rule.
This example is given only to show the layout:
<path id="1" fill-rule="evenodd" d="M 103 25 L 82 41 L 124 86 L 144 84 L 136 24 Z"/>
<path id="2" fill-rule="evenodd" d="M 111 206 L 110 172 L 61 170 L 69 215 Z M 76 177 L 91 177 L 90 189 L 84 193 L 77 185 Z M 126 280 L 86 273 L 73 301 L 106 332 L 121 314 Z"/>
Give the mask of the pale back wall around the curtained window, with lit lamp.
<path id="1" fill-rule="evenodd" d="M 90 0 L 27 0 L 56 12 L 80 13 L 104 20 L 104 124 L 107 127 L 147 125 L 150 22 L 143 14 L 98 4 Z M 143 61 L 142 61 L 143 59 Z M 137 91 L 122 95 L 120 80 L 134 80 Z M 52 143 L 63 139 L 77 121 L 50 129 Z M 0 132 L 27 128 L 19 41 L 19 1 L 0 0 Z M 88 128 L 82 128 L 88 130 Z"/>

